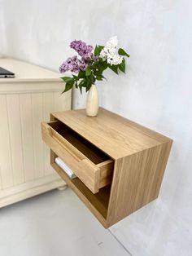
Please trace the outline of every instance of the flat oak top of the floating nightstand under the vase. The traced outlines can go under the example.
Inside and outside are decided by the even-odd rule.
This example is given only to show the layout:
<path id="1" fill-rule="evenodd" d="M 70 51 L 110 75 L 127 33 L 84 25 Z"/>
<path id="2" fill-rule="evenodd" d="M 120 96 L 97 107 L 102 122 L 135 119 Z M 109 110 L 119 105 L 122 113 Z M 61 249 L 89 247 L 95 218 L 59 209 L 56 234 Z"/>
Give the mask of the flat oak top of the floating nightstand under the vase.
<path id="1" fill-rule="evenodd" d="M 171 140 L 104 108 L 99 108 L 97 117 L 87 117 L 85 109 L 52 115 L 113 159 L 126 157 Z"/>

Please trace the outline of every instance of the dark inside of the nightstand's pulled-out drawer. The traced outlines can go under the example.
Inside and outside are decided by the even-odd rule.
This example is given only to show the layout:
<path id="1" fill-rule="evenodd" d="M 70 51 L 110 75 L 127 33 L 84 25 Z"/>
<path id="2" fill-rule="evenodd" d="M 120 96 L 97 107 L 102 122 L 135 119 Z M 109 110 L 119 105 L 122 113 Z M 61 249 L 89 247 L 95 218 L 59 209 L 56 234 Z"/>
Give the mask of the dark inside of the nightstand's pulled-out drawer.
<path id="1" fill-rule="evenodd" d="M 63 124 L 63 122 L 58 120 L 52 121 L 49 123 L 49 126 L 56 130 L 59 135 L 62 135 L 64 139 L 68 140 L 69 143 L 82 152 L 85 157 L 88 157 L 95 165 L 111 159 L 107 154 L 95 147 L 88 140 Z"/>

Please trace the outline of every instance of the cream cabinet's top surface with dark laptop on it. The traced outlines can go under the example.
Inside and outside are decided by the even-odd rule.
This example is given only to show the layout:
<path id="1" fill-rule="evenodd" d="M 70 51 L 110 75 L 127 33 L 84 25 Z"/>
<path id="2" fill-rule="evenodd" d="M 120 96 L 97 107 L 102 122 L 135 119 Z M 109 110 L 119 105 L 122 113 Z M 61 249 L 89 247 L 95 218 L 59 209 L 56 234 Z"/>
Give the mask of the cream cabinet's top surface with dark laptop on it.
<path id="1" fill-rule="evenodd" d="M 1 78 L 0 83 L 12 82 L 61 82 L 61 74 L 24 61 L 2 58 L 0 67 L 15 73 L 15 78 Z"/>

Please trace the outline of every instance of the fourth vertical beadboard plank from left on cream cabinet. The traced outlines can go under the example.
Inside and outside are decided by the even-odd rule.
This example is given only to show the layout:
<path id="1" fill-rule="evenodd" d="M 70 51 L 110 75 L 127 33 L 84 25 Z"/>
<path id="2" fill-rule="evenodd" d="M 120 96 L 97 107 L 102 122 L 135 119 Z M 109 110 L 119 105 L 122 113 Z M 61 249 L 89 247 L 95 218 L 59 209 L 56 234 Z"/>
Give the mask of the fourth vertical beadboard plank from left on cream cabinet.
<path id="1" fill-rule="evenodd" d="M 41 139 L 41 121 L 43 120 L 42 94 L 32 95 L 33 113 L 33 147 L 34 147 L 34 177 L 40 178 L 44 175 L 43 164 L 43 142 Z"/>

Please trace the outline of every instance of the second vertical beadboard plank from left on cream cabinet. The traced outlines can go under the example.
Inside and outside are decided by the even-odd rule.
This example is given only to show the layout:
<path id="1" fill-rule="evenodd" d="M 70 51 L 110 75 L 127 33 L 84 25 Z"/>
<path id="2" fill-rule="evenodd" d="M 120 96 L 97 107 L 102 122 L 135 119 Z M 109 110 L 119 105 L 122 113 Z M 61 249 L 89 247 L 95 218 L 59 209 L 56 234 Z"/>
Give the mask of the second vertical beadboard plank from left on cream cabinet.
<path id="1" fill-rule="evenodd" d="M 11 139 L 11 160 L 14 184 L 24 183 L 24 158 L 20 122 L 19 95 L 7 95 L 7 113 Z"/>

